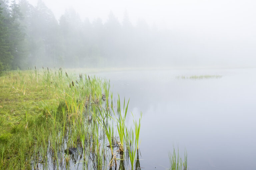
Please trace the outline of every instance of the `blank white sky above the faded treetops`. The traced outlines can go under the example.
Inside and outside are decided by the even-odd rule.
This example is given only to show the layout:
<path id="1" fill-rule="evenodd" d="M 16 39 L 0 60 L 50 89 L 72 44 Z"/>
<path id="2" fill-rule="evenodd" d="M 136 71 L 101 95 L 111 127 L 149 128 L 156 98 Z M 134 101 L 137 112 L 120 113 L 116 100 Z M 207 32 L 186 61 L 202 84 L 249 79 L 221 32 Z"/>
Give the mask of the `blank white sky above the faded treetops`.
<path id="1" fill-rule="evenodd" d="M 32 5 L 37 0 L 28 0 Z M 127 10 L 131 22 L 145 19 L 150 25 L 168 29 L 200 31 L 250 31 L 255 28 L 256 2 L 253 0 L 44 0 L 59 18 L 72 7 L 81 19 L 106 21 L 110 10 L 122 21 Z M 237 28 L 239 27 L 239 28 Z M 235 29 L 236 28 L 236 29 Z"/>

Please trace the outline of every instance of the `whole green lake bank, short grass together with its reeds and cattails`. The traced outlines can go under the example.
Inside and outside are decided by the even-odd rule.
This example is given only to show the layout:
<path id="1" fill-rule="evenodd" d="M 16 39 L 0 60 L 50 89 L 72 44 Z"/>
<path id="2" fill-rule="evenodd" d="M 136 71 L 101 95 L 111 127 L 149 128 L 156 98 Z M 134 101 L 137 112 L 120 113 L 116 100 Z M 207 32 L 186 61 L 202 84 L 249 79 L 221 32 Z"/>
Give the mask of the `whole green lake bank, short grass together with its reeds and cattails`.
<path id="1" fill-rule="evenodd" d="M 0 169 L 140 169 L 142 114 L 127 126 L 129 100 L 113 101 L 109 87 L 61 68 L 6 72 L 0 77 Z"/>

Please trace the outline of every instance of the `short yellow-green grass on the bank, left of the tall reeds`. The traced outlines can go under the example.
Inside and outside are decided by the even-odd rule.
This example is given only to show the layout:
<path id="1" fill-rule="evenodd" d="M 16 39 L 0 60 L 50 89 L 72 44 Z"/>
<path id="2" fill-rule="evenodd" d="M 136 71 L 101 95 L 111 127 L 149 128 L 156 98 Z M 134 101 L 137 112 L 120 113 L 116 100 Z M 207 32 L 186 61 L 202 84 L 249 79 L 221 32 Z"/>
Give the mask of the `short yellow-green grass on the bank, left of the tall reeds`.
<path id="1" fill-rule="evenodd" d="M 29 169 L 33 138 L 46 123 L 40 102 L 58 104 L 36 78 L 29 80 L 28 71 L 20 73 L 24 75 L 10 71 L 0 77 L 0 169 Z"/>

